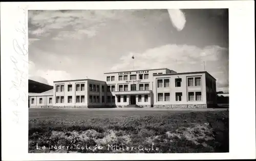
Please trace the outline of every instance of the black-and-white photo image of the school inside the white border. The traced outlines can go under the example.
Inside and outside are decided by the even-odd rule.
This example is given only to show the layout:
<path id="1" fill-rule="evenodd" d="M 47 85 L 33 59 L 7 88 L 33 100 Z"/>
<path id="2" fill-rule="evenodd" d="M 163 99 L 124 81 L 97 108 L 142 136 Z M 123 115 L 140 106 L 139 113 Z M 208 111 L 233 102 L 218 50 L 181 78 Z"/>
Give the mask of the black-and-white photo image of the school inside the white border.
<path id="1" fill-rule="evenodd" d="M 229 152 L 228 9 L 28 18 L 29 152 Z"/>

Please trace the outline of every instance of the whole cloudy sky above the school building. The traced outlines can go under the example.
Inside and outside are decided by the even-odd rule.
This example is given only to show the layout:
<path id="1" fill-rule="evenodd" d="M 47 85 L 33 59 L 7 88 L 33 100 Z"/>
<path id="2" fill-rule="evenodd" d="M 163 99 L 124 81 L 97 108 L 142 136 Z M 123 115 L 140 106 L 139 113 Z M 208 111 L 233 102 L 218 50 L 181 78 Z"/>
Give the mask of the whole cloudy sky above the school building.
<path id="1" fill-rule="evenodd" d="M 53 85 L 104 72 L 206 70 L 228 92 L 228 10 L 28 11 L 29 79 Z M 134 56 L 135 59 L 132 59 Z"/>

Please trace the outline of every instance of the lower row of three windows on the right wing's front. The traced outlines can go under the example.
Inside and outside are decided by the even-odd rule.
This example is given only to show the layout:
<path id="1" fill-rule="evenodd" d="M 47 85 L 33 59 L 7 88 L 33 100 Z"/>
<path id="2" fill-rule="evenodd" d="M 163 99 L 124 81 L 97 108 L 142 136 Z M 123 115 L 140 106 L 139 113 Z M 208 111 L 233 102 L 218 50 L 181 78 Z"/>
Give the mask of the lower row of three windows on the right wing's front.
<path id="1" fill-rule="evenodd" d="M 195 97 L 196 95 L 196 97 Z M 182 92 L 175 93 L 176 101 L 182 101 Z M 188 92 L 188 101 L 201 101 L 201 92 Z M 158 93 L 158 101 L 170 101 L 170 93 Z"/>

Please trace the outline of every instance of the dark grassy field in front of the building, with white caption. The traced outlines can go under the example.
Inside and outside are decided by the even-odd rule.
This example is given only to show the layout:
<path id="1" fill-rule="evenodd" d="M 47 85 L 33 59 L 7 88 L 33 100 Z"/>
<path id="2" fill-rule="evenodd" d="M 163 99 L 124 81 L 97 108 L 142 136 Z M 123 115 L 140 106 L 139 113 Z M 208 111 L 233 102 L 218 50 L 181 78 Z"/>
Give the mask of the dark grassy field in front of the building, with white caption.
<path id="1" fill-rule="evenodd" d="M 228 151 L 227 110 L 29 109 L 30 153 Z"/>

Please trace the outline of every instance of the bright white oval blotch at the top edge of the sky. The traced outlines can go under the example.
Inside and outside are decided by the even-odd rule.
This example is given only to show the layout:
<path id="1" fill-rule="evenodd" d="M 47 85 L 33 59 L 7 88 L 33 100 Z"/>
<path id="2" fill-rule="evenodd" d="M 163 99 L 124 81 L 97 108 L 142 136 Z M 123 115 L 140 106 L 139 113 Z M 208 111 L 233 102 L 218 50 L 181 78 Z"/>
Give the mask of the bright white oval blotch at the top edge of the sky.
<path id="1" fill-rule="evenodd" d="M 168 9 L 170 21 L 172 21 L 174 27 L 181 31 L 186 23 L 185 14 L 179 9 Z"/>

